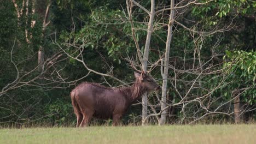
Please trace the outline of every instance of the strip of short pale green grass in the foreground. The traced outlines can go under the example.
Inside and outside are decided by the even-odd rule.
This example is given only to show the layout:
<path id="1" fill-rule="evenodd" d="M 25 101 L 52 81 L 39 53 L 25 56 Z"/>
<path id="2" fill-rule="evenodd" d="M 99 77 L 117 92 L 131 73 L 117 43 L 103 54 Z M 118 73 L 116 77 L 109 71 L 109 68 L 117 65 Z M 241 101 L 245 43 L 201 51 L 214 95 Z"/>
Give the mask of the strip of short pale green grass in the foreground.
<path id="1" fill-rule="evenodd" d="M 256 143 L 256 125 L 0 129 L 0 143 Z"/>

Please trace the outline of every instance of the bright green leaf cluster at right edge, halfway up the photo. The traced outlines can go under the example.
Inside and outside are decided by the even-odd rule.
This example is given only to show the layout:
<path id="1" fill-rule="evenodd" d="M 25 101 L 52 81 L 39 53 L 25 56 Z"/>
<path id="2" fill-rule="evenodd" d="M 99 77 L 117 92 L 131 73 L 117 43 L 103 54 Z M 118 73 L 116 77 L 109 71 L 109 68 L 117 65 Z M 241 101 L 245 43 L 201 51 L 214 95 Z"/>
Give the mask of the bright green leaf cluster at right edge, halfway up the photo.
<path id="1" fill-rule="evenodd" d="M 256 52 L 246 51 L 226 51 L 226 60 L 223 67 L 227 68 L 226 71 L 229 74 L 229 80 L 232 83 L 228 85 L 229 89 L 246 89 L 242 93 L 242 100 L 246 101 L 250 105 L 256 103 L 256 89 L 255 89 L 255 77 L 256 77 Z M 231 91 L 226 91 L 230 93 Z"/>

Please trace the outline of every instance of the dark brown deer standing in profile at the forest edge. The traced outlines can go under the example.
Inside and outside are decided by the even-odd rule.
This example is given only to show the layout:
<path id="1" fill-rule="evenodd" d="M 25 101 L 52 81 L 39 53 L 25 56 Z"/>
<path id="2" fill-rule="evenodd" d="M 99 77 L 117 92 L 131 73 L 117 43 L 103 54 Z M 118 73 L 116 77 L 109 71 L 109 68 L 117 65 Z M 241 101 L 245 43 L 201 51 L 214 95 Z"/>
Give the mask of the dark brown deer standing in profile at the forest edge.
<path id="1" fill-rule="evenodd" d="M 136 81 L 131 87 L 109 88 L 98 83 L 83 82 L 71 92 L 71 100 L 77 127 L 89 125 L 91 118 L 113 118 L 118 125 L 128 107 L 145 92 L 159 90 L 161 87 L 144 72 L 135 73 Z"/>

